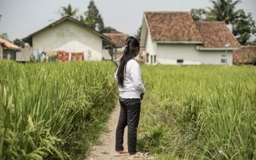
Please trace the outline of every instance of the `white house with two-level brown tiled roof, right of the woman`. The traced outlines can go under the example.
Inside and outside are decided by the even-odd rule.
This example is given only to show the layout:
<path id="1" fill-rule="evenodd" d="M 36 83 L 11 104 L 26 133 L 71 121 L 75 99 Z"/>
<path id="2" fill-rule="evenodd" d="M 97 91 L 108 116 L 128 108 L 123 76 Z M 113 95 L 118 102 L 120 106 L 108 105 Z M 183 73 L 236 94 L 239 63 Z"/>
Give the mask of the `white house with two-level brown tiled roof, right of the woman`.
<path id="1" fill-rule="evenodd" d="M 239 42 L 222 21 L 196 22 L 188 12 L 145 12 L 141 45 L 147 64 L 232 64 Z"/>

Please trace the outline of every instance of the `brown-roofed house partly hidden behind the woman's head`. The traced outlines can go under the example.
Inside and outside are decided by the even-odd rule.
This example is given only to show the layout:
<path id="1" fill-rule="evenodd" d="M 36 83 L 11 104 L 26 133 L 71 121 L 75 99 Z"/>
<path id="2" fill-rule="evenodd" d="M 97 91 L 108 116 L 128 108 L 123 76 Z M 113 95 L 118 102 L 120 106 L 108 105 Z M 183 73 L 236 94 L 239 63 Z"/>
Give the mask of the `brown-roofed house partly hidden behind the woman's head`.
<path id="1" fill-rule="evenodd" d="M 103 33 L 103 35 L 107 36 L 109 39 L 111 39 L 112 42 L 114 42 L 116 47 L 115 51 L 112 52 L 109 50 L 109 53 L 112 52 L 114 60 L 118 63 L 118 61 L 120 61 L 121 57 L 123 56 L 124 46 L 126 44 L 126 38 L 128 35 L 113 28 L 111 28 L 109 33 Z"/>

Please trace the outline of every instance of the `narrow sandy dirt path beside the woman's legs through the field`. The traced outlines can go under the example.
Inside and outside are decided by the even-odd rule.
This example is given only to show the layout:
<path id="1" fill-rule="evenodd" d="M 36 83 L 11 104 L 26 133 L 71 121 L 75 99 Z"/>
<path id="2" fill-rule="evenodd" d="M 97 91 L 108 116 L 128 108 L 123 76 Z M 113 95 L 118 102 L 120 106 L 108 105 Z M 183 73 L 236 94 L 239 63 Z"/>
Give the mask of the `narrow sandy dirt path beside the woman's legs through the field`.
<path id="1" fill-rule="evenodd" d="M 101 159 L 127 159 L 128 156 L 114 156 L 115 152 L 115 129 L 117 128 L 117 122 L 120 113 L 120 104 L 119 102 L 115 105 L 115 108 L 112 110 L 111 115 L 109 116 L 106 126 L 108 127 L 107 132 L 103 132 L 100 135 L 100 144 L 90 147 L 87 152 L 87 160 L 101 160 Z M 124 130 L 124 149 L 127 149 L 127 127 Z"/>

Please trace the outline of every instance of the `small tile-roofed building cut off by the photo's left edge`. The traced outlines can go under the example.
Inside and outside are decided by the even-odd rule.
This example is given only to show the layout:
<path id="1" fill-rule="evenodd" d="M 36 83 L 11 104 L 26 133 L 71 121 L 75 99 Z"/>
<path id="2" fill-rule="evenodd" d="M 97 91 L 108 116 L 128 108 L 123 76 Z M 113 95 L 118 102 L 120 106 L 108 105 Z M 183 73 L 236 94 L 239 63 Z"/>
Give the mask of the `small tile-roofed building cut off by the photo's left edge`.
<path id="1" fill-rule="evenodd" d="M 16 60 L 16 52 L 20 51 L 20 47 L 0 38 L 0 59 Z"/>

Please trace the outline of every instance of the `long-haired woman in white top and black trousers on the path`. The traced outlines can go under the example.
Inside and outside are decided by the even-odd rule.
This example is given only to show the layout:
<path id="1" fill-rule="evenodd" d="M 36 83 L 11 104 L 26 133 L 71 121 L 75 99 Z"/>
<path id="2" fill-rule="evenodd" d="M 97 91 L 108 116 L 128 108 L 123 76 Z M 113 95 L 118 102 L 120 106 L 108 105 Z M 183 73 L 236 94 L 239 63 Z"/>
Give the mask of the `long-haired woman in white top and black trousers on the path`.
<path id="1" fill-rule="evenodd" d="M 141 100 L 145 93 L 145 87 L 141 81 L 141 71 L 135 57 L 139 54 L 139 41 L 133 36 L 126 39 L 123 57 L 115 72 L 120 92 L 119 102 L 121 106 L 117 130 L 115 133 L 115 156 L 129 154 L 129 159 L 138 158 L 136 154 L 137 127 L 141 111 Z M 128 153 L 124 151 L 124 128 L 128 126 Z"/>

